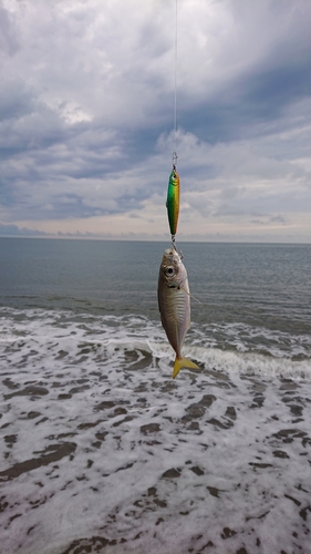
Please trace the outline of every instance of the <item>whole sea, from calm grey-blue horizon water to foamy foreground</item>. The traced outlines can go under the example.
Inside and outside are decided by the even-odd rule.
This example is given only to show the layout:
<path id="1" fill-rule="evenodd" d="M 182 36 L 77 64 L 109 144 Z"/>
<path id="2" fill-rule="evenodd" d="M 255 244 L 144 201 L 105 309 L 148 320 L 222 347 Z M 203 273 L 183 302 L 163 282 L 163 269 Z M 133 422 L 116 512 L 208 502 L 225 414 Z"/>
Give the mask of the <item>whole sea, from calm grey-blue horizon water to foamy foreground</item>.
<path id="1" fill-rule="evenodd" d="M 311 245 L 0 238 L 0 552 L 311 553 Z"/>

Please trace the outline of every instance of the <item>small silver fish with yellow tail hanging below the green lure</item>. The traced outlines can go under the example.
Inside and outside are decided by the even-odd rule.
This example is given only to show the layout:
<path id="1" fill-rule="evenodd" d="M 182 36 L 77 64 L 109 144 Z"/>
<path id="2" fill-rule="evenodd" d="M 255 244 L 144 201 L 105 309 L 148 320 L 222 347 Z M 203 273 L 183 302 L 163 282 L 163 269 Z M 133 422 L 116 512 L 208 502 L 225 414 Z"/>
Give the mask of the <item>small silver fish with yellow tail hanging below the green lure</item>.
<path id="1" fill-rule="evenodd" d="M 199 368 L 182 356 L 182 347 L 190 326 L 190 291 L 187 270 L 174 246 L 167 248 L 163 255 L 157 298 L 162 325 L 176 353 L 173 368 L 173 379 L 175 379 L 182 368 Z"/>

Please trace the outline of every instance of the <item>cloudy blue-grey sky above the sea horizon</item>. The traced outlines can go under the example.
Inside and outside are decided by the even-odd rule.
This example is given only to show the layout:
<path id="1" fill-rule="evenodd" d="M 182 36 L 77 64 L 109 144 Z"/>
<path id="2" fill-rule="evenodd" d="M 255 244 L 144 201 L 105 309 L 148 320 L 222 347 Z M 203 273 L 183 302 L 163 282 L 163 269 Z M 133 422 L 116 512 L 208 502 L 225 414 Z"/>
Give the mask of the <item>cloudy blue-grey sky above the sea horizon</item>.
<path id="1" fill-rule="evenodd" d="M 179 240 L 311 243 L 310 21 L 310 0 L 0 0 L 0 235 L 169 239 L 176 150 Z"/>

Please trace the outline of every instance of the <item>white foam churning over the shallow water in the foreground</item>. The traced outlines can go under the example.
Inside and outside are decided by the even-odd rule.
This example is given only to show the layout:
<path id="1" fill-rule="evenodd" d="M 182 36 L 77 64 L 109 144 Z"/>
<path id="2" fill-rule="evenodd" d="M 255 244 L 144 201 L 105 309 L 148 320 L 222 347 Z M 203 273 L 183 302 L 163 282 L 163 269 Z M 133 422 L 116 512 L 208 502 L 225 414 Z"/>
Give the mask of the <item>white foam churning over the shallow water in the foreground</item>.
<path id="1" fill-rule="evenodd" d="M 310 552 L 310 360 L 190 334 L 173 380 L 145 318 L 2 322 L 3 552 Z"/>

